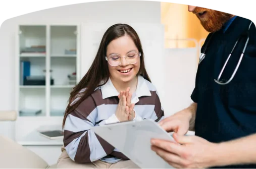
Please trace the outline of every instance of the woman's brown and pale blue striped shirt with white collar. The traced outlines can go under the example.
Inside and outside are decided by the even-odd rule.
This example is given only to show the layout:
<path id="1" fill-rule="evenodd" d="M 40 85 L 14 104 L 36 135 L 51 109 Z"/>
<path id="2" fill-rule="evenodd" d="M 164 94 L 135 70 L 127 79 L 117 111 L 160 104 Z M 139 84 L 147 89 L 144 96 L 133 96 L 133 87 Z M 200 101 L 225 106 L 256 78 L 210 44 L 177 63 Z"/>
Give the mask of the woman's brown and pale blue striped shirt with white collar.
<path id="1" fill-rule="evenodd" d="M 67 116 L 64 146 L 69 157 L 75 162 L 89 163 L 102 160 L 115 163 L 121 159 L 128 160 L 124 154 L 90 130 L 93 126 L 119 122 L 115 116 L 119 103 L 118 94 L 109 80 L 105 85 L 96 88 Z M 135 103 L 134 121 L 151 119 L 159 122 L 164 118 L 156 87 L 142 76 L 138 76 L 137 88 L 131 102 Z"/>

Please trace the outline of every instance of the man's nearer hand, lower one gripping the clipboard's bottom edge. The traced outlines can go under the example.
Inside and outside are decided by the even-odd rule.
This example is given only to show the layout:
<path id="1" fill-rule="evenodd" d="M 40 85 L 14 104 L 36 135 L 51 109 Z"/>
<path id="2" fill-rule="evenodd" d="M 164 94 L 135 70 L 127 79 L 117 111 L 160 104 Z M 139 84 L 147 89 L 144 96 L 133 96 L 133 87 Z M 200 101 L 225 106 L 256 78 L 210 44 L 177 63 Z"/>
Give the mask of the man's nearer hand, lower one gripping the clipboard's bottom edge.
<path id="1" fill-rule="evenodd" d="M 151 149 L 178 169 L 199 169 L 212 166 L 218 144 L 197 136 L 181 136 L 174 133 L 173 137 L 177 143 L 152 139 Z"/>

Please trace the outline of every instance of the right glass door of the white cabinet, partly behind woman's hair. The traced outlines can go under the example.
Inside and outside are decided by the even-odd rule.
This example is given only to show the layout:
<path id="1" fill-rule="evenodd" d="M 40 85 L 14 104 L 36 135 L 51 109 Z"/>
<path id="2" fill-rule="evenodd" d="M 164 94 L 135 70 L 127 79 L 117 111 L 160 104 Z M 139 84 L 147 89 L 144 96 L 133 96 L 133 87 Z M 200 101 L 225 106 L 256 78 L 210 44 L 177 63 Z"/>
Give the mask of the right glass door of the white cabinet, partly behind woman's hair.
<path id="1" fill-rule="evenodd" d="M 77 84 L 77 26 L 50 26 L 50 116 L 63 116 Z"/>

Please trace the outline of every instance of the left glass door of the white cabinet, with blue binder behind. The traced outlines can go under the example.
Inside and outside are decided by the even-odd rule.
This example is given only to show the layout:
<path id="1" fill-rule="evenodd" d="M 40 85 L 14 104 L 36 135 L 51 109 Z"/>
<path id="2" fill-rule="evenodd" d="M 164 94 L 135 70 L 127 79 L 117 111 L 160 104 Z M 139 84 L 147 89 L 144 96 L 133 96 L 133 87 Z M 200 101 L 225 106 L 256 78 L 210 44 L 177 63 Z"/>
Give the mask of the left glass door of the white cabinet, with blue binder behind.
<path id="1" fill-rule="evenodd" d="M 45 116 L 46 26 L 19 26 L 19 115 Z"/>

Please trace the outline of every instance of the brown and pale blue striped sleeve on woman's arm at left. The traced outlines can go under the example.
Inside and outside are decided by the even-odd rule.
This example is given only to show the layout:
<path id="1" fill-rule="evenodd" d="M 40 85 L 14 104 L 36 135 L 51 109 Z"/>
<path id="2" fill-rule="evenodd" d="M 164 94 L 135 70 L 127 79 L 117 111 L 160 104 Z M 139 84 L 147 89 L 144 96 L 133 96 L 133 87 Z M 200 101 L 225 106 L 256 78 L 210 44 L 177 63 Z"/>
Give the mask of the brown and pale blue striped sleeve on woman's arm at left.
<path id="1" fill-rule="evenodd" d="M 95 125 L 97 106 L 92 96 L 87 97 L 65 122 L 64 146 L 69 157 L 78 163 L 89 163 L 101 159 L 114 147 L 90 129 Z"/>

